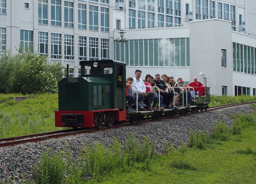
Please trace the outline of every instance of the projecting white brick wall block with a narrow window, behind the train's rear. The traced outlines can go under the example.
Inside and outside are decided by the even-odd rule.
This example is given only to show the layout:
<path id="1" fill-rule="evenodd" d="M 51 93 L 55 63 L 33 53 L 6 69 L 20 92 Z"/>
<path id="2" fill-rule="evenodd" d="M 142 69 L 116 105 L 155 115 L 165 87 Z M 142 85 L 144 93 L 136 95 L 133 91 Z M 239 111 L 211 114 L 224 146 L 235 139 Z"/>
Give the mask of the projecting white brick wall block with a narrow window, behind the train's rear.
<path id="1" fill-rule="evenodd" d="M 227 86 L 227 95 L 233 95 L 230 26 L 230 21 L 217 18 L 189 24 L 190 79 L 197 76 L 202 81 L 206 77 L 214 95 L 222 95 L 222 86 Z M 226 50 L 226 67 L 221 67 L 221 49 Z"/>

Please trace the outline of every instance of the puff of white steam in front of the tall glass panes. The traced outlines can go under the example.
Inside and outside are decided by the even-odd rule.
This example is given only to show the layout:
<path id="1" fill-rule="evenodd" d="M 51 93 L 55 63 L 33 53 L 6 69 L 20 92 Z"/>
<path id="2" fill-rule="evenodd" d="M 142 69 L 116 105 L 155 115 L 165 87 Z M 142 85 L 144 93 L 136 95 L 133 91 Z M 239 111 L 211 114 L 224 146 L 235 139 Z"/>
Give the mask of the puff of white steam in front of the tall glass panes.
<path id="1" fill-rule="evenodd" d="M 159 60 L 168 61 L 169 66 L 174 66 L 174 44 L 169 39 L 160 39 L 159 54 Z"/>

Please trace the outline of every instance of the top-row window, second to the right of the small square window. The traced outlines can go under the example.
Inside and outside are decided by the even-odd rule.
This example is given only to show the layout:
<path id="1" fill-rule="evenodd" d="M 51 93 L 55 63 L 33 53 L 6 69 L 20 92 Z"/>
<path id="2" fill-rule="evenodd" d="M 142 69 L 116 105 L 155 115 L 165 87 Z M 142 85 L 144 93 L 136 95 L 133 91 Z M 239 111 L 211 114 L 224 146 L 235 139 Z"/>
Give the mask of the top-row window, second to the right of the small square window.
<path id="1" fill-rule="evenodd" d="M 51 25 L 61 26 L 61 1 L 51 0 Z"/>

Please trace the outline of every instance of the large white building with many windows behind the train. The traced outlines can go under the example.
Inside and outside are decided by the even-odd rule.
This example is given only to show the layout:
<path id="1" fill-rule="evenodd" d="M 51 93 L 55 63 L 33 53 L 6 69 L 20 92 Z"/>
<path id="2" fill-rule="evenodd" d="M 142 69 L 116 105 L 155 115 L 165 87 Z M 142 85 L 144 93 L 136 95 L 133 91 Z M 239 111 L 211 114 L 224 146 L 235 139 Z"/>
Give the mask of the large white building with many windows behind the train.
<path id="1" fill-rule="evenodd" d="M 38 52 L 50 62 L 121 60 L 187 83 L 207 79 L 215 95 L 256 93 L 256 6 L 253 0 L 0 0 L 0 54 Z M 200 73 L 200 75 L 199 75 Z"/>

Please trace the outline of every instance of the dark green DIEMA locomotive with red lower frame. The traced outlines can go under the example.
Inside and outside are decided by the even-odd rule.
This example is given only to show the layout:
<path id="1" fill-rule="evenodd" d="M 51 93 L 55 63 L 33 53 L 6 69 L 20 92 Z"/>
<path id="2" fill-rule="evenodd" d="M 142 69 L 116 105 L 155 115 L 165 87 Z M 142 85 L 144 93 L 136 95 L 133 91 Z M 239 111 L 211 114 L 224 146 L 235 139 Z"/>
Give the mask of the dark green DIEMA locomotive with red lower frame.
<path id="1" fill-rule="evenodd" d="M 81 77 L 58 83 L 55 126 L 101 127 L 105 121 L 126 120 L 125 63 L 98 60 L 80 61 L 80 65 Z"/>

